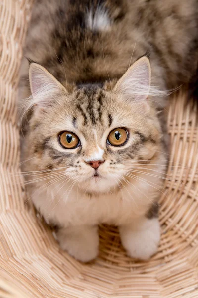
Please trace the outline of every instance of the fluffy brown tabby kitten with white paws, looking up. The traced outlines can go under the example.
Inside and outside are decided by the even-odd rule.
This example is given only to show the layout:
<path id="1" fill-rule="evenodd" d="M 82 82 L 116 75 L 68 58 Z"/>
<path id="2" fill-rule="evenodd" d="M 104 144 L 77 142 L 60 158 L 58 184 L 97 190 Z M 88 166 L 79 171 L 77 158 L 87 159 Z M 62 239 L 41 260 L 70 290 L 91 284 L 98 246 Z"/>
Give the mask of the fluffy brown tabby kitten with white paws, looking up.
<path id="1" fill-rule="evenodd" d="M 129 256 L 157 252 L 166 90 L 196 72 L 197 30 L 197 0 L 35 0 L 20 70 L 22 171 L 77 260 L 97 257 L 102 223 L 118 226 Z"/>

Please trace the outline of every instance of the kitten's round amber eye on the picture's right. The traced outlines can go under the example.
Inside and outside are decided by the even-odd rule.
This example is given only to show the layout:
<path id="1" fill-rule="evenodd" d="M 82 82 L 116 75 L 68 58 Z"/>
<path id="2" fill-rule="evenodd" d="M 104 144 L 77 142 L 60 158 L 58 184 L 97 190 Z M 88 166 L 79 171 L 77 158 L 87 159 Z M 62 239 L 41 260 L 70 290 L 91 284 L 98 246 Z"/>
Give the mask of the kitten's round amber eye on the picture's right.
<path id="1" fill-rule="evenodd" d="M 113 146 L 122 146 L 128 140 L 128 131 L 124 128 L 116 128 L 108 135 L 107 142 Z"/>

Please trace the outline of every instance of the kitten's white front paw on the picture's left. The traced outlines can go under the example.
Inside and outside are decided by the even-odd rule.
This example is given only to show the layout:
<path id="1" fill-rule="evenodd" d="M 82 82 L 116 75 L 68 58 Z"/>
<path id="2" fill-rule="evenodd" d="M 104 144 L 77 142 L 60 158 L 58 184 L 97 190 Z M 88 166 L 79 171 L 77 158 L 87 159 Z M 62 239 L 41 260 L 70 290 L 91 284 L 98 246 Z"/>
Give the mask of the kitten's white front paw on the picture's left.
<path id="1" fill-rule="evenodd" d="M 60 247 L 75 259 L 89 262 L 98 255 L 98 227 L 62 228 L 57 232 Z"/>

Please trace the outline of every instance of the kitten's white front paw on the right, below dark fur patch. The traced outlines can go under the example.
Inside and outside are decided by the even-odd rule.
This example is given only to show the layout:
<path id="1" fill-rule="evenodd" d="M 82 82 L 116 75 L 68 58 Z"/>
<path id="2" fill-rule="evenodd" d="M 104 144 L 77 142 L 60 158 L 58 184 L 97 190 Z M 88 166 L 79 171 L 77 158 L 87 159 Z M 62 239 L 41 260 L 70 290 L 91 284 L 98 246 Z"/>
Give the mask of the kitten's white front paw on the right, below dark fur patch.
<path id="1" fill-rule="evenodd" d="M 142 220 L 119 228 L 123 246 L 132 258 L 148 260 L 157 252 L 160 225 L 157 218 Z"/>

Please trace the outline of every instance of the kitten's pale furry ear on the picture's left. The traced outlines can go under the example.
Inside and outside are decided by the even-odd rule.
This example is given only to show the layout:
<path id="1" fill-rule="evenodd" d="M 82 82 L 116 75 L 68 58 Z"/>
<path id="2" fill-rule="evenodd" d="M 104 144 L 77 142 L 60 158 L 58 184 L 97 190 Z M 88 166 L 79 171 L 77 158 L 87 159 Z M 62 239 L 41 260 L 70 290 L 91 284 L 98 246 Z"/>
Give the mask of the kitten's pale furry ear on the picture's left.
<path id="1" fill-rule="evenodd" d="M 60 95 L 66 95 L 65 87 L 43 66 L 31 63 L 29 68 L 29 81 L 32 93 L 32 106 L 42 109 L 51 107 L 58 101 Z"/>

